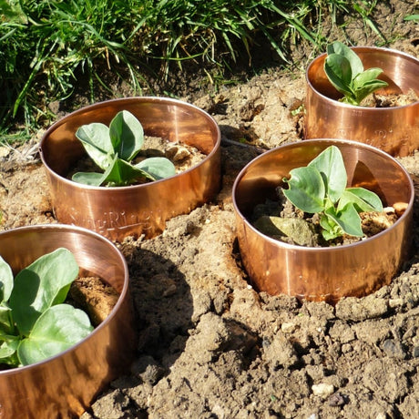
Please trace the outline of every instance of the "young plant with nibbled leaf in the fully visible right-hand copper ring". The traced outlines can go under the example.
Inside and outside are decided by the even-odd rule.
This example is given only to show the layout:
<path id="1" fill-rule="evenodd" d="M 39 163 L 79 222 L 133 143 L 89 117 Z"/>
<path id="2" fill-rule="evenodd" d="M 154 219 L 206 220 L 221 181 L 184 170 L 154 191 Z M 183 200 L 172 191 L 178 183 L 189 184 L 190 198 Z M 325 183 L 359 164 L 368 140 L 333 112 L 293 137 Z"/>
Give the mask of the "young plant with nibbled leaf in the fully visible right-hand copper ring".
<path id="1" fill-rule="evenodd" d="M 339 148 L 331 146 L 307 167 L 292 169 L 283 179 L 283 193 L 298 209 L 319 213 L 322 236 L 332 240 L 344 233 L 363 237 L 359 212 L 383 211 L 381 199 L 364 188 L 346 188 L 347 175 Z"/>

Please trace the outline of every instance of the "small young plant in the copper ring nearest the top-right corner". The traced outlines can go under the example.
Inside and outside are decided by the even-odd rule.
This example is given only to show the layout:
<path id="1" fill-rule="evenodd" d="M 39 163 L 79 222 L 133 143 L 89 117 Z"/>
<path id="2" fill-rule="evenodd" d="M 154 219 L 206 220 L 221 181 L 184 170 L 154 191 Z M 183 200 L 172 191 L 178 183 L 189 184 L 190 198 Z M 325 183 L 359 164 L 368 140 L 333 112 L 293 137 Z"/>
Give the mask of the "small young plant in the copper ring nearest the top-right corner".
<path id="1" fill-rule="evenodd" d="M 363 69 L 363 63 L 351 48 L 341 42 L 327 46 L 324 72 L 333 87 L 344 95 L 344 103 L 359 106 L 365 97 L 388 84 L 377 77 L 383 73 L 381 68 Z"/>

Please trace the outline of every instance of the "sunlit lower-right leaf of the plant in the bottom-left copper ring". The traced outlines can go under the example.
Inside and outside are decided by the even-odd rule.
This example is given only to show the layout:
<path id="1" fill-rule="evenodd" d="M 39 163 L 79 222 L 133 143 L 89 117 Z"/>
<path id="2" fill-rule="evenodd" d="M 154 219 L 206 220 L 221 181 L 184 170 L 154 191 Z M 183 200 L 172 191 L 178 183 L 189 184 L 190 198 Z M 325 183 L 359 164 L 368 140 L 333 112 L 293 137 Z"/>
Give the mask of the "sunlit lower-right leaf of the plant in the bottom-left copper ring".
<path id="1" fill-rule="evenodd" d="M 86 312 L 58 304 L 38 318 L 32 332 L 19 344 L 17 355 L 23 365 L 38 363 L 66 351 L 92 331 Z"/>

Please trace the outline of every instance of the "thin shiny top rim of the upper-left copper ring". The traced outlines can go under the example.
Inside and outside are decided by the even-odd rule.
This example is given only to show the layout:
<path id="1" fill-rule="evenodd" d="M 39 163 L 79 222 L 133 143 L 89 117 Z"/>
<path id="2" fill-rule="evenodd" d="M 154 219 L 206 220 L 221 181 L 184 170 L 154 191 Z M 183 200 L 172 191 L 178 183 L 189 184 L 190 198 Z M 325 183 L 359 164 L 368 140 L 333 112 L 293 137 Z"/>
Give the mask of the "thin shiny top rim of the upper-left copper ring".
<path id="1" fill-rule="evenodd" d="M 212 124 L 214 125 L 214 127 L 217 130 L 217 138 L 216 138 L 216 141 L 214 143 L 214 146 L 211 149 L 210 153 L 205 158 L 203 158 L 202 161 L 195 164 L 194 166 L 192 166 L 189 169 L 183 170 L 181 173 L 176 173 L 175 175 L 170 176 L 169 178 L 154 180 L 153 183 L 163 183 L 163 182 L 167 181 L 168 179 L 172 179 L 176 176 L 183 175 L 183 174 L 187 175 L 190 171 L 192 171 L 194 169 L 197 169 L 197 168 L 199 168 L 199 166 L 205 164 L 220 149 L 221 131 L 220 131 L 220 127 L 217 124 L 217 122 L 215 121 L 215 119 L 212 118 L 210 116 L 210 114 L 208 114 L 207 112 L 205 112 L 201 108 L 199 108 L 195 105 L 192 105 L 188 102 L 184 102 L 182 100 L 179 100 L 179 99 L 172 99 L 170 97 L 147 97 L 147 96 L 115 98 L 115 99 L 104 100 L 102 102 L 97 102 L 95 104 L 88 105 L 87 107 L 81 107 L 81 108 L 71 112 L 71 114 L 68 114 L 68 115 L 72 115 L 74 117 L 77 117 L 78 114 L 84 114 L 85 112 L 87 112 L 88 110 L 90 110 L 92 108 L 108 107 L 113 102 L 119 102 L 121 100 L 128 101 L 128 102 L 130 102 L 130 101 L 134 102 L 134 101 L 138 100 L 138 98 L 140 98 L 141 100 L 148 100 L 149 102 L 167 103 L 168 105 L 177 105 L 177 106 L 188 106 L 189 108 L 192 108 L 196 112 L 199 112 L 200 114 L 202 114 L 205 118 L 209 119 L 209 121 L 212 122 Z M 61 118 L 60 120 L 56 121 L 56 123 L 54 123 L 50 128 L 48 128 L 46 130 L 46 132 L 43 134 L 43 136 L 41 138 L 41 141 L 39 142 L 39 154 L 40 154 L 40 157 L 41 157 L 41 161 L 44 164 L 44 166 L 46 167 L 46 169 L 50 173 L 52 173 L 54 176 L 61 179 L 60 181 L 68 183 L 68 184 L 72 185 L 72 187 L 75 187 L 77 189 L 92 189 L 92 190 L 101 190 L 101 191 L 111 190 L 110 188 L 107 189 L 107 188 L 104 188 L 103 186 L 92 186 L 92 185 L 79 184 L 79 183 L 77 183 L 77 182 L 75 182 L 71 179 L 67 179 L 64 176 L 59 175 L 58 173 L 56 173 L 56 171 L 54 171 L 53 169 L 51 169 L 48 166 L 48 164 L 46 162 L 46 159 L 44 157 L 44 153 L 43 153 L 43 144 L 46 141 L 46 138 L 48 138 L 48 136 L 50 135 L 50 133 L 55 131 L 57 127 L 59 127 L 61 124 L 63 124 L 65 122 L 63 119 L 64 118 Z M 141 190 L 141 189 L 144 189 L 144 188 L 147 188 L 147 187 L 148 187 L 148 183 L 136 185 L 136 188 L 138 188 L 138 190 Z M 112 187 L 112 189 L 114 189 L 114 190 L 125 190 L 125 189 L 130 189 L 130 188 L 131 188 L 130 185 Z"/>

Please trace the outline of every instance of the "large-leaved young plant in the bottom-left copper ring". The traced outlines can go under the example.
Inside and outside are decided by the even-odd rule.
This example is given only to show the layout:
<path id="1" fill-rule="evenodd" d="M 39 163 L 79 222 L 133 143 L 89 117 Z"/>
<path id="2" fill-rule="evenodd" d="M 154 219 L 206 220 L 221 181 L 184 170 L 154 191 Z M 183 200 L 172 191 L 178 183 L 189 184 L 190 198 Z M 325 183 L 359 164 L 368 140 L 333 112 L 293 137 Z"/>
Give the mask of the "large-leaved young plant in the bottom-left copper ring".
<path id="1" fill-rule="evenodd" d="M 41 256 L 15 280 L 0 257 L 0 363 L 38 363 L 92 332 L 86 312 L 63 303 L 77 274 L 77 261 L 63 248 Z"/>

